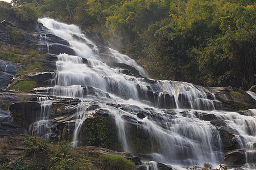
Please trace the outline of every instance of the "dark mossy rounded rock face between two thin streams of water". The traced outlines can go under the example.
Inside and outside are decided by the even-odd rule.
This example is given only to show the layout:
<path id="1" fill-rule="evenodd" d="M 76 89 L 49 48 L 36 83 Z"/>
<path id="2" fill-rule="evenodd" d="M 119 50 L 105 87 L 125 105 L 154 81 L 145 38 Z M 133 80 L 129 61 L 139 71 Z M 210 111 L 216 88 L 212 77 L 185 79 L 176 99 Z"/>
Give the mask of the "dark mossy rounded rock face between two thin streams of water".
<path id="1" fill-rule="evenodd" d="M 88 120 L 82 129 L 82 142 L 84 145 L 105 147 L 112 150 L 121 150 L 118 140 L 117 128 L 110 117 L 97 116 Z"/>

